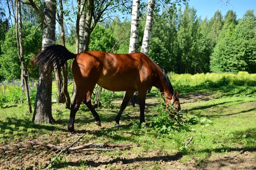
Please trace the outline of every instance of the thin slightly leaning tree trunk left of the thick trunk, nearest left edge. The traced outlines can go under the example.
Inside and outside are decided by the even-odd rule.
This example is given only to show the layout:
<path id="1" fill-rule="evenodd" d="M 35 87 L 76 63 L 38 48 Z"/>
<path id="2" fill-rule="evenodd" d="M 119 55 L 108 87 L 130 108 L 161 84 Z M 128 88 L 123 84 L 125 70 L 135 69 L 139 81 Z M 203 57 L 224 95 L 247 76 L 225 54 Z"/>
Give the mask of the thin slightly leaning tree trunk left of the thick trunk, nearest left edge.
<path id="1" fill-rule="evenodd" d="M 26 102 L 28 105 L 28 111 L 29 113 L 32 113 L 31 108 L 31 102 L 29 97 L 29 86 L 28 86 L 28 77 L 25 72 L 25 63 L 24 63 L 24 57 L 23 57 L 23 41 L 22 41 L 22 18 L 21 18 L 21 7 L 20 7 L 20 0 L 16 0 L 16 20 L 15 20 L 15 28 L 16 28 L 16 37 L 17 37 L 17 46 L 18 46 L 18 55 L 20 59 L 20 65 L 21 65 L 21 81 L 23 82 L 25 91 L 26 91 Z M 20 26 L 19 29 L 19 35 L 18 35 L 18 25 Z M 21 91 L 23 87 L 21 86 Z M 22 92 L 21 92 L 22 95 Z M 22 100 L 22 96 L 21 96 Z"/>

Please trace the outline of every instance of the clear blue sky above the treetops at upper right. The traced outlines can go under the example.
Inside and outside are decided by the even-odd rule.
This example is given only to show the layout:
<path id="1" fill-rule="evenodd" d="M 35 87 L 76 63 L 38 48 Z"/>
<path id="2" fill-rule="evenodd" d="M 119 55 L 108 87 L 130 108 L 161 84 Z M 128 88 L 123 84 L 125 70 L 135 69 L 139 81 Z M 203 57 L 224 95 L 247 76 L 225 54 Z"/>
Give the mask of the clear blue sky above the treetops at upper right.
<path id="1" fill-rule="evenodd" d="M 256 0 L 230 0 L 230 3 L 226 5 L 227 0 L 189 0 L 189 7 L 194 7 L 197 12 L 197 16 L 201 16 L 204 20 L 205 17 L 208 20 L 214 16 L 214 13 L 219 10 L 221 14 L 225 16 L 228 10 L 236 12 L 237 18 L 243 17 L 244 13 L 249 9 L 254 9 L 256 13 Z M 182 10 L 184 6 L 182 6 Z"/>

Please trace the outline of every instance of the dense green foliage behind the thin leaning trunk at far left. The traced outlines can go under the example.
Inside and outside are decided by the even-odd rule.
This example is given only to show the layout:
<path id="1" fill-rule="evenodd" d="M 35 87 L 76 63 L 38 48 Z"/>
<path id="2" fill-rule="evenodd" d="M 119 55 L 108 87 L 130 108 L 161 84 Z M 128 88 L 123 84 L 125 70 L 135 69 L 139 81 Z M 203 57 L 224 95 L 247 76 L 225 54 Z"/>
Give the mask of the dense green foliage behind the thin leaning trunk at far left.
<path id="1" fill-rule="evenodd" d="M 12 28 L 6 34 L 0 54 L 0 79 L 20 79 L 20 60 L 18 58 L 17 40 L 14 37 Z M 31 57 L 33 57 L 41 48 L 42 31 L 40 27 L 33 26 L 32 23 L 23 23 L 23 49 L 24 59 L 29 71 L 29 77 L 38 77 L 38 67 L 35 66 Z"/>

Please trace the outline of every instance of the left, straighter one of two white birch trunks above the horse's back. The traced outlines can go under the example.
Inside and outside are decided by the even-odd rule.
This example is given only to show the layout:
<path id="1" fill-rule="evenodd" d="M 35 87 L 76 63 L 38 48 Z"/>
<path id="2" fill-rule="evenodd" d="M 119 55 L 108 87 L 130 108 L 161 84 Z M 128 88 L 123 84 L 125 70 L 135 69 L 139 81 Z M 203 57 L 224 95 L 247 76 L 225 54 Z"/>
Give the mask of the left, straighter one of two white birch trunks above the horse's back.
<path id="1" fill-rule="evenodd" d="M 138 42 L 138 30 L 139 30 L 139 10 L 140 10 L 140 0 L 133 0 L 132 11 L 131 11 L 131 36 L 129 53 L 137 51 Z"/>

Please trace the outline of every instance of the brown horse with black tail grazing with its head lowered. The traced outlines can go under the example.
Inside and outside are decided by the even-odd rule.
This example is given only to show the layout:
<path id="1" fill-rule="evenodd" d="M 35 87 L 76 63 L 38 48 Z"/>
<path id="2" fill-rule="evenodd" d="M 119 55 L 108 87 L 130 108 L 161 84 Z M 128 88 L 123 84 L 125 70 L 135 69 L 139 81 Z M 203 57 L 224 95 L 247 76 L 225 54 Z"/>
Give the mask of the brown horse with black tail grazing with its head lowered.
<path id="1" fill-rule="evenodd" d="M 164 94 L 166 103 L 176 105 L 175 111 L 180 111 L 178 92 L 174 91 L 166 72 L 143 53 L 112 54 L 102 51 L 88 51 L 73 54 L 62 45 L 51 45 L 41 51 L 34 59 L 42 67 L 53 65 L 61 67 L 64 63 L 74 59 L 71 64 L 76 82 L 76 96 L 71 104 L 68 130 L 75 134 L 74 122 L 76 112 L 81 102 L 90 109 L 97 125 L 101 125 L 99 114 L 91 104 L 91 95 L 98 84 L 109 91 L 126 91 L 121 108 L 116 116 L 116 125 L 126 105 L 135 91 L 139 93 L 140 123 L 145 122 L 145 97 L 152 86 Z"/>

